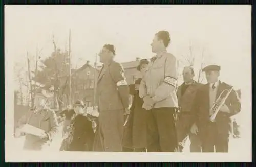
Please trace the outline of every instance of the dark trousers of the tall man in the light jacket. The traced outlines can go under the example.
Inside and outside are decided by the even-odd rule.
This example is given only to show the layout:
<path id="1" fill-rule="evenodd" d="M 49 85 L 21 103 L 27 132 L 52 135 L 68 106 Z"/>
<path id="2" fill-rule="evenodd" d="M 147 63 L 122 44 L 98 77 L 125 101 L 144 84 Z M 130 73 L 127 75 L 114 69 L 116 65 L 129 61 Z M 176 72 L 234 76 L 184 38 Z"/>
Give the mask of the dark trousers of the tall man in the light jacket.
<path id="1" fill-rule="evenodd" d="M 177 152 L 175 108 L 153 108 L 147 116 L 147 152 Z"/>

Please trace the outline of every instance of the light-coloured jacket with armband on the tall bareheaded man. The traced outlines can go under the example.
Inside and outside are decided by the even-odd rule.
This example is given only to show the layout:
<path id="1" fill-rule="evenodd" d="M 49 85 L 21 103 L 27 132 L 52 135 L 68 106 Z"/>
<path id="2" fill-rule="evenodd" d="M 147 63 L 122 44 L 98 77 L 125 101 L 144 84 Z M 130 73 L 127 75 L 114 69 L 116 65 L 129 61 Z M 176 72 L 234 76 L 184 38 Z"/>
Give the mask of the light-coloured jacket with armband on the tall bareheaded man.
<path id="1" fill-rule="evenodd" d="M 158 54 L 155 61 L 148 66 L 145 77 L 140 84 L 140 98 L 151 96 L 156 102 L 154 108 L 178 107 L 175 92 L 177 85 L 177 60 L 166 51 Z"/>

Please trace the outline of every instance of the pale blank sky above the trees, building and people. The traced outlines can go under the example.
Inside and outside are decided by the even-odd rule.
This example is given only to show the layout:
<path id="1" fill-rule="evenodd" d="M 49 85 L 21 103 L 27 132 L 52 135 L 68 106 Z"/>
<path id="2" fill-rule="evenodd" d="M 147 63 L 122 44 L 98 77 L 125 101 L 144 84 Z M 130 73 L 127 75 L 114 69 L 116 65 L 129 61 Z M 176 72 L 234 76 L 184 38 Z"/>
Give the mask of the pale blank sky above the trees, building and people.
<path id="1" fill-rule="evenodd" d="M 116 46 L 116 61 L 150 58 L 150 43 L 159 30 L 172 37 L 168 51 L 177 58 L 189 42 L 204 48 L 211 64 L 222 67 L 221 80 L 244 85 L 251 70 L 251 10 L 249 5 L 12 5 L 5 8 L 5 51 L 15 62 L 26 62 L 26 51 L 42 57 L 57 46 L 68 49 L 71 29 L 73 66 L 94 61 L 105 43 Z M 198 49 L 196 54 L 201 51 Z"/>

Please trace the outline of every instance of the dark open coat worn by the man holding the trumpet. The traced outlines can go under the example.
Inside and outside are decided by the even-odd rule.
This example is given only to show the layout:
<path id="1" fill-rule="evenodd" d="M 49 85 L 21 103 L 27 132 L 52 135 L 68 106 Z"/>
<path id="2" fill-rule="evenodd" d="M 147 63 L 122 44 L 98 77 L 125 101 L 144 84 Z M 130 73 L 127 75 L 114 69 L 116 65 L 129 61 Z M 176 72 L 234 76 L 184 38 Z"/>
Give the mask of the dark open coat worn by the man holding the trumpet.
<path id="1" fill-rule="evenodd" d="M 219 86 L 216 94 L 216 99 L 220 93 L 225 89 L 230 89 L 231 86 L 219 81 Z M 225 94 L 223 94 L 225 95 Z M 216 116 L 217 131 L 221 135 L 228 136 L 232 130 L 231 116 L 237 114 L 241 110 L 241 102 L 236 91 L 232 90 L 226 99 L 225 104 L 228 106 L 230 113 L 219 111 Z M 199 129 L 199 134 L 204 136 L 207 134 L 209 121 L 209 84 L 203 85 L 196 93 L 195 103 L 193 105 L 193 112 L 195 114 L 195 122 Z"/>

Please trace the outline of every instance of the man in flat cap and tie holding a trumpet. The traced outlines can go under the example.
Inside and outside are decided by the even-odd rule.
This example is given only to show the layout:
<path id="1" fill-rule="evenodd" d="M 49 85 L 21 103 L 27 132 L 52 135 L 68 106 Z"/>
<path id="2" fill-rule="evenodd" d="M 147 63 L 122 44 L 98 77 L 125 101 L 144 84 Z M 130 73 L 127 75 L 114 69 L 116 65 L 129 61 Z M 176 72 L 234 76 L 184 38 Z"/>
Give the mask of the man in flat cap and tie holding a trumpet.
<path id="1" fill-rule="evenodd" d="M 228 152 L 228 141 L 231 132 L 230 117 L 239 113 L 241 103 L 236 91 L 232 90 L 224 105 L 217 114 L 215 121 L 210 121 L 210 108 L 223 90 L 230 90 L 231 86 L 221 82 L 220 66 L 209 65 L 203 68 L 207 84 L 198 89 L 193 105 L 194 122 L 191 133 L 199 134 L 203 152 Z M 225 96 L 226 93 L 223 94 Z M 223 97 L 222 96 L 222 97 Z"/>

